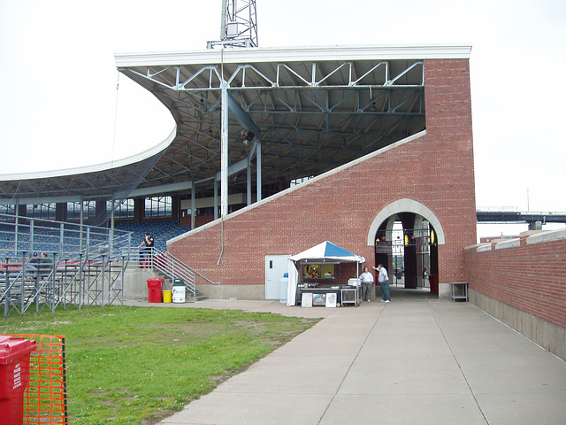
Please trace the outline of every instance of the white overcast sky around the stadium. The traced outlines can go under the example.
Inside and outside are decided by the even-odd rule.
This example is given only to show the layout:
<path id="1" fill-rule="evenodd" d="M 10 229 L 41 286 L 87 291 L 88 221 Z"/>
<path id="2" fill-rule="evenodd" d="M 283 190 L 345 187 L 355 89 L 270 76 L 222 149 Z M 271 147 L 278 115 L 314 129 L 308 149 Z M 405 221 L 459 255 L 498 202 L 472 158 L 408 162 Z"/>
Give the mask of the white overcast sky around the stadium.
<path id="1" fill-rule="evenodd" d="M 0 0 L 0 179 L 108 162 L 161 142 L 172 118 L 119 76 L 114 53 L 205 49 L 219 39 L 221 3 Z M 566 2 L 256 5 L 260 47 L 470 43 L 478 208 L 566 212 Z M 498 235 L 493 226 L 478 233 Z"/>

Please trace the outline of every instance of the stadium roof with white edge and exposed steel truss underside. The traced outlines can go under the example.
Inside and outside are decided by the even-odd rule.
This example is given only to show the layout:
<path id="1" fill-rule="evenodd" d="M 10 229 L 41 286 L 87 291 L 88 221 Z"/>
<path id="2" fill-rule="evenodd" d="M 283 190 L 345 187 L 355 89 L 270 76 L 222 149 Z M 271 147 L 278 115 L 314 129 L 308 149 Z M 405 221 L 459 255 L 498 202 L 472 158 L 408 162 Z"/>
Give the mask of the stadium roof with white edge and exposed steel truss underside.
<path id="1" fill-rule="evenodd" d="M 0 175 L 0 203 L 189 197 L 193 187 L 196 197 L 212 196 L 221 177 L 221 81 L 227 189 L 250 193 L 259 180 L 276 192 L 423 130 L 424 59 L 470 58 L 470 50 L 453 44 L 117 54 L 119 72 L 171 111 L 172 135 L 112 164 Z"/>

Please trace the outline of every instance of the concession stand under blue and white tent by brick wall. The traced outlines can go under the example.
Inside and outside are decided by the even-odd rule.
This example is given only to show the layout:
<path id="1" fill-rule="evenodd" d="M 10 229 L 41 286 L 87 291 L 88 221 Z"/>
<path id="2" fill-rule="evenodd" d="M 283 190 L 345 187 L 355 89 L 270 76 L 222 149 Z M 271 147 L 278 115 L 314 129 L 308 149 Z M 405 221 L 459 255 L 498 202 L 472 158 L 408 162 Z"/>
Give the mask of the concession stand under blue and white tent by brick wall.
<path id="1" fill-rule="evenodd" d="M 360 289 L 354 283 L 364 262 L 328 241 L 294 255 L 288 259 L 287 305 L 359 305 Z"/>

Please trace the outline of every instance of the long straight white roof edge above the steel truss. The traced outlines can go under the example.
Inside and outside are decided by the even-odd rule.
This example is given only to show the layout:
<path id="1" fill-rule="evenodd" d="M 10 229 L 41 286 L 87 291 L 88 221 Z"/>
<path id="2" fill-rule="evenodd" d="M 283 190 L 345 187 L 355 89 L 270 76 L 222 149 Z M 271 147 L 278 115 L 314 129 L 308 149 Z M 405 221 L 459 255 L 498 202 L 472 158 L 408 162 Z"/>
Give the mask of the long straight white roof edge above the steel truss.
<path id="1" fill-rule="evenodd" d="M 116 53 L 116 66 L 188 65 L 203 63 L 284 62 L 304 60 L 468 59 L 470 43 L 269 47 L 225 50 Z"/>

